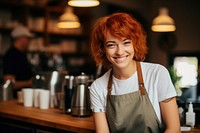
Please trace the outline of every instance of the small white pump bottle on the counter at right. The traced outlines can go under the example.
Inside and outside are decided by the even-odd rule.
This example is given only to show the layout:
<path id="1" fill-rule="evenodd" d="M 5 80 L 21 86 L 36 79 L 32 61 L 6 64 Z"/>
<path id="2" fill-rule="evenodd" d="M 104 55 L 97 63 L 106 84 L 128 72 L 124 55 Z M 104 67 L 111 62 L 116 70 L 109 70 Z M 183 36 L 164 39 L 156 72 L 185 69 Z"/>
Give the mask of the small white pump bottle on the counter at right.
<path id="1" fill-rule="evenodd" d="M 186 125 L 191 127 L 195 125 L 195 113 L 193 112 L 192 102 L 190 102 L 188 112 L 186 112 Z"/>

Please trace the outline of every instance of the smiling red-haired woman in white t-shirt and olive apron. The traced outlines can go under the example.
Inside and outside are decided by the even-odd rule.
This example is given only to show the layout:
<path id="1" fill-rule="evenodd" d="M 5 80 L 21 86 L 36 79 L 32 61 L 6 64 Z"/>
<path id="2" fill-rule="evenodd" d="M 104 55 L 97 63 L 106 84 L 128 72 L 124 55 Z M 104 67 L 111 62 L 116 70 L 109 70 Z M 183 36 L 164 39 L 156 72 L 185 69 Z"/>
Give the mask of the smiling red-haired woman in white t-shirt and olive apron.
<path id="1" fill-rule="evenodd" d="M 179 133 L 176 91 L 166 68 L 141 62 L 147 53 L 141 25 L 126 13 L 101 18 L 92 32 L 97 63 L 110 68 L 93 82 L 97 133 Z"/>

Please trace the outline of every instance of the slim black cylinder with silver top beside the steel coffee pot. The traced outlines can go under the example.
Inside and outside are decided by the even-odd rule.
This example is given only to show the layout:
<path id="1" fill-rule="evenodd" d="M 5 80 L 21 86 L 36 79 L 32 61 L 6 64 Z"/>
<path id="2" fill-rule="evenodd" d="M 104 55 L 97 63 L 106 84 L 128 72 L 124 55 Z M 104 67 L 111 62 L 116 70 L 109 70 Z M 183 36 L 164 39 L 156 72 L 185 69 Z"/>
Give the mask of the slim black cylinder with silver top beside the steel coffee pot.
<path id="1" fill-rule="evenodd" d="M 71 100 L 74 89 L 74 76 L 65 76 L 65 86 L 64 86 L 64 111 L 66 114 L 71 113 Z"/>

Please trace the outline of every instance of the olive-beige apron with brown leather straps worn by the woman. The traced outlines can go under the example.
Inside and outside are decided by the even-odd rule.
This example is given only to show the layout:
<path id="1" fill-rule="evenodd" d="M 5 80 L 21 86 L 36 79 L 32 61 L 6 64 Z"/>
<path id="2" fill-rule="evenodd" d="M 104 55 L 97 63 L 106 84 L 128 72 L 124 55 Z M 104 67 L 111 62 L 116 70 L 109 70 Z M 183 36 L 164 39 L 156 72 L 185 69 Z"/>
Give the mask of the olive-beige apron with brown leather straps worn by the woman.
<path id="1" fill-rule="evenodd" d="M 106 117 L 111 133 L 162 133 L 164 128 L 144 88 L 142 70 L 137 62 L 139 90 L 111 95 L 112 72 L 108 81 Z"/>

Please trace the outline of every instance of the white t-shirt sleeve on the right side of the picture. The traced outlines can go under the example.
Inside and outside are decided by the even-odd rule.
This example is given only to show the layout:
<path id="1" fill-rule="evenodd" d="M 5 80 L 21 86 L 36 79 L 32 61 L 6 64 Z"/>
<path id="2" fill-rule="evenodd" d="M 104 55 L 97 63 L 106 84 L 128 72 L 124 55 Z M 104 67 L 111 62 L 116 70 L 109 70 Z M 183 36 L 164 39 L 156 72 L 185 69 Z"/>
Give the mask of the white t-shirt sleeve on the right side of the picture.
<path id="1" fill-rule="evenodd" d="M 159 102 L 176 96 L 176 90 L 172 84 L 169 72 L 161 65 L 157 68 L 156 82 Z"/>

